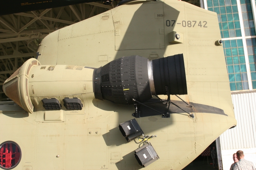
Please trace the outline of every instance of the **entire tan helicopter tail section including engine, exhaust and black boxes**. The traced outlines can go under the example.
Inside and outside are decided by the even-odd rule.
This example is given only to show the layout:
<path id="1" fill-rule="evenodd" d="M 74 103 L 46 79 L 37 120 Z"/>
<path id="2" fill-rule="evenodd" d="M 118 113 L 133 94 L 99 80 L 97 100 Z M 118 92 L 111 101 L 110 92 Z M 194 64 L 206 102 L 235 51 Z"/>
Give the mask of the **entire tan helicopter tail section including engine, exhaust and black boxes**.
<path id="1" fill-rule="evenodd" d="M 220 39 L 216 13 L 177 0 L 49 34 L 4 82 L 0 167 L 184 168 L 237 123 Z"/>

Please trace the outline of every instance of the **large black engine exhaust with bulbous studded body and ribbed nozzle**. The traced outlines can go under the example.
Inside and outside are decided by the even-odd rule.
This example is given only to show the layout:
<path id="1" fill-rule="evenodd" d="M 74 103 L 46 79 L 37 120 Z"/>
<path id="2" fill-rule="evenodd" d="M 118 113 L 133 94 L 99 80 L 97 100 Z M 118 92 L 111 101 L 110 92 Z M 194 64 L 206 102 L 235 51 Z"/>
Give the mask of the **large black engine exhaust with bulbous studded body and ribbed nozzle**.
<path id="1" fill-rule="evenodd" d="M 187 94 L 183 54 L 148 60 L 122 57 L 94 70 L 94 95 L 114 103 L 145 102 L 153 95 Z"/>

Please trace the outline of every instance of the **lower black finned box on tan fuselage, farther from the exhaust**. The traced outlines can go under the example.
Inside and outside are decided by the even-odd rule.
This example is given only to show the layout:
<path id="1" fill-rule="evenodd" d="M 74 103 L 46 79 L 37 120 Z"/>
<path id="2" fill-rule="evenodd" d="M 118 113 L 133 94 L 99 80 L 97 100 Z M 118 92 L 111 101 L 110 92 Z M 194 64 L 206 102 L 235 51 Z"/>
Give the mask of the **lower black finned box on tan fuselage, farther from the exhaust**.
<path id="1" fill-rule="evenodd" d="M 140 166 L 143 167 L 146 167 L 159 159 L 150 142 L 148 142 L 146 145 L 143 145 L 139 149 L 136 149 L 134 156 L 139 162 Z"/>

